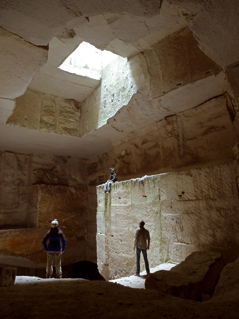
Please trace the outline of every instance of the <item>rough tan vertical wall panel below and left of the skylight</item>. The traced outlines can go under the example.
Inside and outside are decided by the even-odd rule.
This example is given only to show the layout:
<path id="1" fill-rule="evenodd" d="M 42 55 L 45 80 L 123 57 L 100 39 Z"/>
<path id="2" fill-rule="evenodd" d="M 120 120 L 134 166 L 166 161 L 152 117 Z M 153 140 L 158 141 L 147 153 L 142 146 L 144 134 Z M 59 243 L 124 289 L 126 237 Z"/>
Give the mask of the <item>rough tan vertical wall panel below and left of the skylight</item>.
<path id="1" fill-rule="evenodd" d="M 79 136 L 80 106 L 51 94 L 26 90 L 6 124 L 41 132 Z"/>

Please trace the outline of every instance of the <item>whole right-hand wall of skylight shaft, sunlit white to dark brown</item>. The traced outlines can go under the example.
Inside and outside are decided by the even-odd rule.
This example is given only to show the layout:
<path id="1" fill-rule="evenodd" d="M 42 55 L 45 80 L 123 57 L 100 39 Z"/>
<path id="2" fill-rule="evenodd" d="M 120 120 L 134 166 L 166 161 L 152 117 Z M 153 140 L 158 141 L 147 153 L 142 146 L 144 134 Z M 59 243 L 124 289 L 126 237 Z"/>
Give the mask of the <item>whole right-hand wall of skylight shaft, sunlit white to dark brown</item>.
<path id="1" fill-rule="evenodd" d="M 115 135 L 122 137 L 166 116 L 198 106 L 202 102 L 194 102 L 193 97 L 191 105 L 178 101 L 186 100 L 185 95 L 192 94 L 192 88 L 176 100 L 171 99 L 171 106 L 164 105 L 158 98 L 216 76 L 219 71 L 219 65 L 199 50 L 188 27 L 128 61 L 118 57 L 102 70 L 101 85 L 81 103 L 81 136 L 92 133 L 110 139 Z M 226 92 L 222 82 L 217 83 L 213 94 L 214 89 L 207 93 L 208 86 L 214 86 L 212 83 L 201 89 L 209 98 L 214 97 Z"/>

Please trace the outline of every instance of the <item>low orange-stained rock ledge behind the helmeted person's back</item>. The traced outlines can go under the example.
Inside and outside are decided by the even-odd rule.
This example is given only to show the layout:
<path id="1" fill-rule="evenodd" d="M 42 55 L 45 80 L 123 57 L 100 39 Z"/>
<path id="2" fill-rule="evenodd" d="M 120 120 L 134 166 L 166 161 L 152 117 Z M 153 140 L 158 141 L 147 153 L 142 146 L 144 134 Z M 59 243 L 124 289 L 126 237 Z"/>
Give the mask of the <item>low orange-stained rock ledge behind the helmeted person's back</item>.
<path id="1" fill-rule="evenodd" d="M 16 266 L 30 268 L 45 266 L 47 256 L 42 240 L 51 228 L 50 224 L 47 224 L 47 226 L 43 227 L 1 230 L 0 263 L 4 264 L 4 256 L 6 260 L 11 256 L 12 263 Z M 62 255 L 62 264 L 84 260 L 86 251 L 85 227 L 79 223 L 59 226 L 67 240 L 67 249 Z"/>

